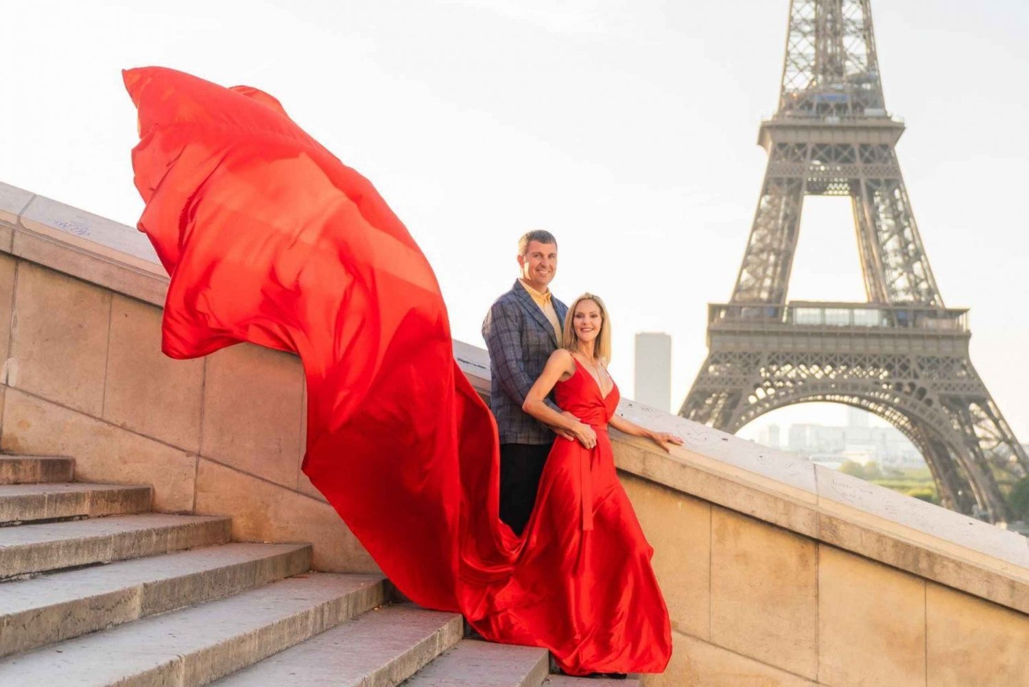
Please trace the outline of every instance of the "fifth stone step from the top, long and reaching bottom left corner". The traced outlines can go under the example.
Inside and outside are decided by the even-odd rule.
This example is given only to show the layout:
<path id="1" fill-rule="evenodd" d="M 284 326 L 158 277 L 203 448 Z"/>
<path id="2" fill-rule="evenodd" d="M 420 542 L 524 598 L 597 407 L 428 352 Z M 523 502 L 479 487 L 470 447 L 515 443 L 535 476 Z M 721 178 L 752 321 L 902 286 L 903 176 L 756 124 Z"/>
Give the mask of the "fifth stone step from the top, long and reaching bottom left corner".
<path id="1" fill-rule="evenodd" d="M 0 685 L 206 685 L 383 603 L 378 576 L 312 573 L 0 660 Z"/>

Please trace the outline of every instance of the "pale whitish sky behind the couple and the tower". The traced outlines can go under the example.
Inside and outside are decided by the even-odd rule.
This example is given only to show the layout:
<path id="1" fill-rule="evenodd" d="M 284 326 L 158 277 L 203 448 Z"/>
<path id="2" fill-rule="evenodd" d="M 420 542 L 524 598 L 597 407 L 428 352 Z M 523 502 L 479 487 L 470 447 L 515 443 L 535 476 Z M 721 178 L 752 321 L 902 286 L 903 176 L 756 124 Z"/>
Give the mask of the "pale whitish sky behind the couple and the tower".
<path id="1" fill-rule="evenodd" d="M 555 293 L 601 295 L 612 373 L 673 337 L 673 412 L 728 300 L 765 173 L 788 0 L 0 0 L 0 181 L 135 226 L 120 69 L 162 65 L 279 98 L 367 176 L 483 345 L 518 236 L 553 231 Z M 875 0 L 886 106 L 944 299 L 1029 442 L 1029 3 Z M 789 297 L 863 300 L 849 200 L 808 198 Z M 842 408 L 767 421 L 843 421 Z M 791 419 L 784 419 L 791 418 Z"/>

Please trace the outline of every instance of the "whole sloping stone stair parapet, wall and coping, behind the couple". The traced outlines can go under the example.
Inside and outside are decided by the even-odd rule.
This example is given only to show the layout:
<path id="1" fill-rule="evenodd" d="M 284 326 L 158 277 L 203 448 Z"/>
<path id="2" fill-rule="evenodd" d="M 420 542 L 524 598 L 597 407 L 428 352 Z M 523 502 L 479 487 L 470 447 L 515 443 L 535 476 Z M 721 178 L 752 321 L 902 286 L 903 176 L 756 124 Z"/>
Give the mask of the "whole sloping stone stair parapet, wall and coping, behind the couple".
<path id="1" fill-rule="evenodd" d="M 311 541 L 321 570 L 375 563 L 299 472 L 291 355 L 159 352 L 168 279 L 135 230 L 0 184 L 5 451 L 154 487 L 167 512 L 230 515 L 240 540 Z M 485 351 L 455 342 L 489 393 Z M 1029 540 L 626 400 L 676 432 L 613 433 L 654 546 L 675 654 L 650 685 L 1025 685 Z"/>

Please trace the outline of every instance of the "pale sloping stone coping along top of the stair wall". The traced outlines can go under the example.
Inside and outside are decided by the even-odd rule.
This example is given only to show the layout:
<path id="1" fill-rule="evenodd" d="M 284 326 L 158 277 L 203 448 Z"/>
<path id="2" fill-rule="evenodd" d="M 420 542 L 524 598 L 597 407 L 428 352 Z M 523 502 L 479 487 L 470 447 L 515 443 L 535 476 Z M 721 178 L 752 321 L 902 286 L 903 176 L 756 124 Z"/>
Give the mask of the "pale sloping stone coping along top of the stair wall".
<path id="1" fill-rule="evenodd" d="M 130 227 L 0 183 L 0 251 L 162 306 L 168 277 L 144 243 Z M 454 350 L 489 393 L 486 351 Z M 615 433 L 626 472 L 1029 613 L 1029 539 L 628 399 L 618 412 L 686 442 L 666 454 Z"/>

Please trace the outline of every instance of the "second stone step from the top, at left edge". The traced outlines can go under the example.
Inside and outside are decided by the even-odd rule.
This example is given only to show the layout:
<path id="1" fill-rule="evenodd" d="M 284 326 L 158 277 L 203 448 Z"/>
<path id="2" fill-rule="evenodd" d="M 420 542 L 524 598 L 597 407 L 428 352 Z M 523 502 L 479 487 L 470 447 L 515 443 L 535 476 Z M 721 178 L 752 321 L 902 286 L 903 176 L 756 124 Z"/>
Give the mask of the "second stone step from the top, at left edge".
<path id="1" fill-rule="evenodd" d="M 0 524 L 150 510 L 150 487 L 125 484 L 0 485 Z"/>

